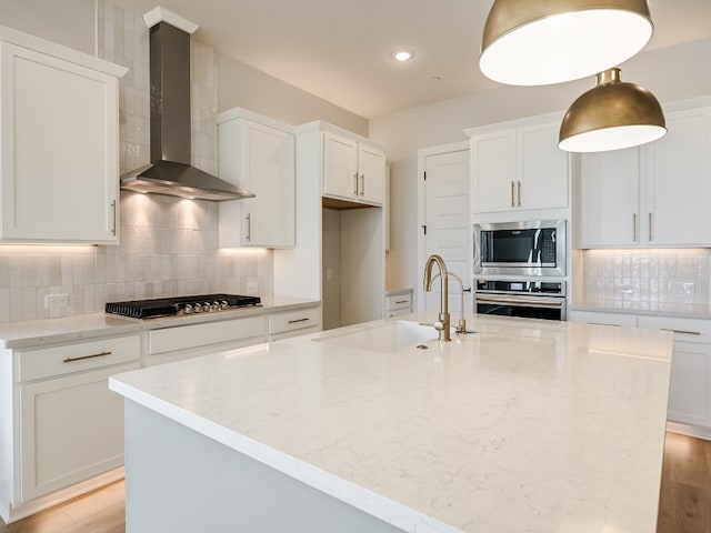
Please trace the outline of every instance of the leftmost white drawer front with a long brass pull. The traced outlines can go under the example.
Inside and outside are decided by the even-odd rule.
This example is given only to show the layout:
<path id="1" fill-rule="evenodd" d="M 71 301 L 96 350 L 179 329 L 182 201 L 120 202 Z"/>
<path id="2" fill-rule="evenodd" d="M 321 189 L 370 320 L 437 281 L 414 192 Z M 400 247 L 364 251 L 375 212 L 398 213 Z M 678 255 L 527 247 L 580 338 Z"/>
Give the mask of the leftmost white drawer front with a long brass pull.
<path id="1" fill-rule="evenodd" d="M 38 350 L 23 350 L 19 353 L 19 379 L 21 382 L 40 380 L 138 361 L 140 358 L 140 335 L 117 336 Z"/>

